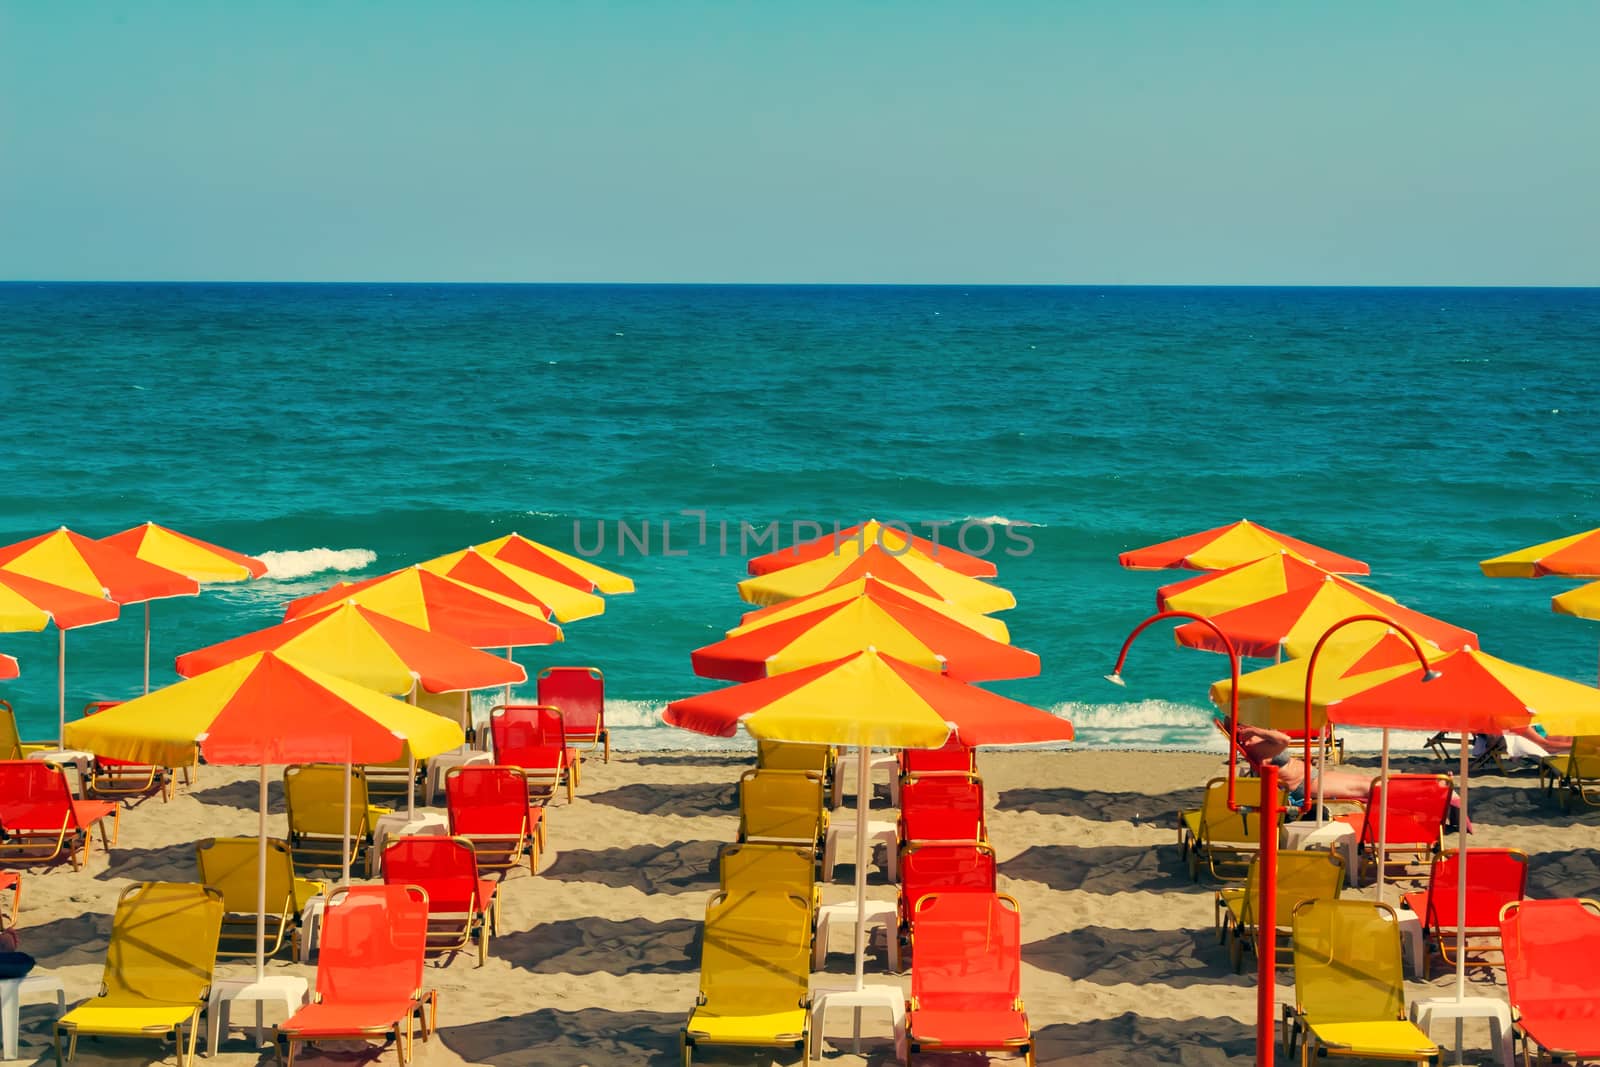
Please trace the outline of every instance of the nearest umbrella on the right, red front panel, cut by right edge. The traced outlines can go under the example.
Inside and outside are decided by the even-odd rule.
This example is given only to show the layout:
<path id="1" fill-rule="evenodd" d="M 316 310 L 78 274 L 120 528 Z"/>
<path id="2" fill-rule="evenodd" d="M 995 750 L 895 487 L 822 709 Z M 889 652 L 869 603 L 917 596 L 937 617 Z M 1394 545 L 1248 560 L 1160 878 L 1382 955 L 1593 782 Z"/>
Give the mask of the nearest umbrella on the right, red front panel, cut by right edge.
<path id="1" fill-rule="evenodd" d="M 1470 733 L 1504 733 L 1538 723 L 1550 733 L 1600 733 L 1600 689 L 1542 670 L 1522 667 L 1477 649 L 1459 649 L 1430 664 L 1424 681 L 1418 670 L 1331 701 L 1328 720 L 1387 729 L 1451 729 L 1461 734 L 1461 872 L 1456 913 L 1466 917 L 1467 893 L 1467 771 Z M 1386 793 L 1387 795 L 1387 793 Z M 1382 827 L 1379 814 L 1379 829 Z M 1382 870 L 1379 854 L 1379 872 Z M 1379 894 L 1382 883 L 1379 881 Z M 1456 929 L 1456 1000 L 1466 997 L 1466 926 Z"/>

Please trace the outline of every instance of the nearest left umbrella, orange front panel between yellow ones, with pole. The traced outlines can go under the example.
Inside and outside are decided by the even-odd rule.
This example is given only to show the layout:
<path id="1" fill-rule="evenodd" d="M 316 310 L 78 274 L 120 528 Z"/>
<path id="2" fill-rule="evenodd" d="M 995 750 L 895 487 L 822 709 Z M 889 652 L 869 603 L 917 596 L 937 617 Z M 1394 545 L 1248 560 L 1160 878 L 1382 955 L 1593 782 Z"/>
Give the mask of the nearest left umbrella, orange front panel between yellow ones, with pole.
<path id="1" fill-rule="evenodd" d="M 66 742 L 118 760 L 179 766 L 259 766 L 256 981 L 266 973 L 267 768 L 286 763 L 386 763 L 462 744 L 461 726 L 277 653 L 256 653 L 69 725 Z M 346 817 L 349 827 L 349 817 Z M 344 880 L 350 878 L 346 837 Z"/>

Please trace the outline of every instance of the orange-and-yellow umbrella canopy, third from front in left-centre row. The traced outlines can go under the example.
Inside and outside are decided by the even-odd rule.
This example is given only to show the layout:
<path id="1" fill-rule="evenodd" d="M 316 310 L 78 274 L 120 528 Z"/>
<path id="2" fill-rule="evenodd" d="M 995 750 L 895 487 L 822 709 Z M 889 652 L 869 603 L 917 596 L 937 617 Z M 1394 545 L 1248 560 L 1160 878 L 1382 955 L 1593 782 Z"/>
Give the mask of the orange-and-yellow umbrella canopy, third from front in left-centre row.
<path id="1" fill-rule="evenodd" d="M 474 648 L 517 648 L 562 640 L 560 627 L 547 622 L 539 608 L 419 566 L 365 582 L 339 584 L 290 601 L 283 617 L 298 619 L 344 601 Z"/>

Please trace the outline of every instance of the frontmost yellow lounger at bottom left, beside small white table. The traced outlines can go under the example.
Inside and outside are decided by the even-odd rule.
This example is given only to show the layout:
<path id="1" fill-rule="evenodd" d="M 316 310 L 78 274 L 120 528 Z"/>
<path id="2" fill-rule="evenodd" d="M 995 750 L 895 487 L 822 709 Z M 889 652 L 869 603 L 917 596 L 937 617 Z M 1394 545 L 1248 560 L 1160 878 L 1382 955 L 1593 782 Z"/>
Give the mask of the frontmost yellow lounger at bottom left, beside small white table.
<path id="1" fill-rule="evenodd" d="M 61 1037 L 69 1038 L 70 1059 L 83 1033 L 173 1037 L 179 1067 L 192 1064 L 200 1009 L 216 966 L 222 907 L 222 893 L 210 886 L 141 881 L 123 889 L 110 923 L 101 993 L 56 1022 L 56 1064 L 62 1062 Z"/>

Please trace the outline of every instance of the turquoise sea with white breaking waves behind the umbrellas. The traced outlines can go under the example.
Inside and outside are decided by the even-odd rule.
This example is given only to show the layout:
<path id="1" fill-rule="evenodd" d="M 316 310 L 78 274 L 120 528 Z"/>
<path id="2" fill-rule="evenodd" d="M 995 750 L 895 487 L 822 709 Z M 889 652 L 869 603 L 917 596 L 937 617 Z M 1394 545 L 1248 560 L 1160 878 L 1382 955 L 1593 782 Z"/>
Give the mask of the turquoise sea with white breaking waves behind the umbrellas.
<path id="1" fill-rule="evenodd" d="M 741 523 L 976 520 L 1045 664 L 997 689 L 1083 744 L 1210 745 L 1221 657 L 1150 632 L 1128 689 L 1102 681 L 1182 577 L 1115 557 L 1240 517 L 1592 683 L 1600 624 L 1549 609 L 1568 584 L 1477 560 L 1600 526 L 1597 358 L 1595 290 L 0 285 L 0 542 L 152 518 L 266 555 L 155 603 L 166 683 L 336 577 L 603 526 L 638 592 L 520 659 L 603 667 L 638 747 L 701 742 L 656 712 L 717 685 L 688 653 L 749 609 Z M 141 617 L 69 635 L 69 707 L 138 691 Z M 29 733 L 54 649 L 0 633 Z"/>

